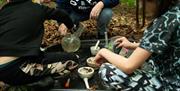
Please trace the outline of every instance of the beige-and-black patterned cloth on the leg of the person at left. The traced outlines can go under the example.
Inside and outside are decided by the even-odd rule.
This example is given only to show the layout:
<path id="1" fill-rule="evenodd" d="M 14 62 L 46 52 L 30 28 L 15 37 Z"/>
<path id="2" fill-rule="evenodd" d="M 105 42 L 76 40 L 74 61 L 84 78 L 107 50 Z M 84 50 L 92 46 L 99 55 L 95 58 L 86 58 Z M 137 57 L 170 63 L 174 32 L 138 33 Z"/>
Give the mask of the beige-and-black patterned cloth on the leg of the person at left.
<path id="1" fill-rule="evenodd" d="M 69 74 L 71 70 L 75 69 L 78 64 L 72 60 L 65 63 L 56 62 L 51 64 L 37 64 L 25 62 L 21 65 L 21 70 L 31 76 L 43 76 L 50 74 L 59 74 L 60 76 Z"/>

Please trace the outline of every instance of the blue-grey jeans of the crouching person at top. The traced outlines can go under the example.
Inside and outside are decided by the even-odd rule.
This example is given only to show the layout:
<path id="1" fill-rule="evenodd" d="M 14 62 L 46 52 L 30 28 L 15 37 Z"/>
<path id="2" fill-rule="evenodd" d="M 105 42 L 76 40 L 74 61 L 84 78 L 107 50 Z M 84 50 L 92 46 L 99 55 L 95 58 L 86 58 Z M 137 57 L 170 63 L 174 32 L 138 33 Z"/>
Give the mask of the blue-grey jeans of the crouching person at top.
<path id="1" fill-rule="evenodd" d="M 64 9 L 67 11 L 73 21 L 74 24 L 78 25 L 79 22 L 85 21 L 89 19 L 89 14 L 80 14 L 71 8 L 63 8 L 60 7 L 60 9 Z M 98 19 L 97 19 L 97 31 L 99 35 L 104 35 L 104 32 L 108 31 L 108 24 L 110 20 L 112 19 L 112 9 L 111 8 L 104 8 L 102 9 Z"/>

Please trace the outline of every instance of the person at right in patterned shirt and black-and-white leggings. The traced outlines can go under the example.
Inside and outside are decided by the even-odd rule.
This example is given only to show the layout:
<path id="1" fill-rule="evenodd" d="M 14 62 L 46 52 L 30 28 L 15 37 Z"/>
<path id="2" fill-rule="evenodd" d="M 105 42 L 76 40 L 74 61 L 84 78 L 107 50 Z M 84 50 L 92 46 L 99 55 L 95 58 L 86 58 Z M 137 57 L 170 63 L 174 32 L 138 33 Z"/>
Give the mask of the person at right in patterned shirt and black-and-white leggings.
<path id="1" fill-rule="evenodd" d="M 106 59 L 99 74 L 106 86 L 130 91 L 180 90 L 180 2 L 147 0 L 155 19 L 140 43 L 119 38 L 119 47 L 135 49 L 129 58 L 102 49 L 95 61 Z M 148 8 L 146 8 L 148 9 Z M 140 68 L 141 69 L 138 69 Z"/>

